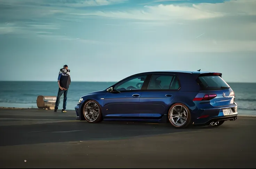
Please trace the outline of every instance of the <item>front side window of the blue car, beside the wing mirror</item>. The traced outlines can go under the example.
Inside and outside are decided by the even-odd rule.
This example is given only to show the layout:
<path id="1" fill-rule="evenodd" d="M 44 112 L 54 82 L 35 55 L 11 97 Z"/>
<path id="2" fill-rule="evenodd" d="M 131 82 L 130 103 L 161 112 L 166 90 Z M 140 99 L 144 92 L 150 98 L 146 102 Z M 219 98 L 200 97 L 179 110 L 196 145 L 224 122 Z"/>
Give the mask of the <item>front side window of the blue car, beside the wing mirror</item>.
<path id="1" fill-rule="evenodd" d="M 130 77 L 116 84 L 114 86 L 114 90 L 118 90 L 118 91 L 141 90 L 146 77 L 147 77 L 146 74 Z"/>

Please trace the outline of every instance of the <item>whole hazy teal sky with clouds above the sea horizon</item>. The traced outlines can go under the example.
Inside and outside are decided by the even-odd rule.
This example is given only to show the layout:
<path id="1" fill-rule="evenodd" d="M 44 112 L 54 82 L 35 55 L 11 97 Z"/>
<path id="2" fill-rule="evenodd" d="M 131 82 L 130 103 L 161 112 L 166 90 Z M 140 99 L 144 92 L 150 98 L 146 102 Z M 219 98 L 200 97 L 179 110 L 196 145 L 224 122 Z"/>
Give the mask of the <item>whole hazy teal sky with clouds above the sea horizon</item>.
<path id="1" fill-rule="evenodd" d="M 158 70 L 256 82 L 256 0 L 0 0 L 0 81 Z"/>

